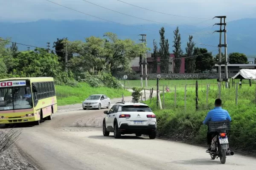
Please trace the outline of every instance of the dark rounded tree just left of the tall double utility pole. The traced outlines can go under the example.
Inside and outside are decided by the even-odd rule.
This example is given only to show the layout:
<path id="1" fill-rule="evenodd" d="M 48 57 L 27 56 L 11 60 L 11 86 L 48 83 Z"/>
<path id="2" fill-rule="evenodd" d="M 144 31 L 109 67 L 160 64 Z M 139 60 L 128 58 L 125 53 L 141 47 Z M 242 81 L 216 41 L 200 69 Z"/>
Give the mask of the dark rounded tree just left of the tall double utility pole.
<path id="1" fill-rule="evenodd" d="M 196 71 L 203 73 L 208 71 L 212 71 L 212 66 L 214 65 L 214 59 L 212 56 L 212 52 L 208 52 L 206 48 L 198 48 L 194 49 L 194 54 L 198 55 L 196 57 Z"/>

